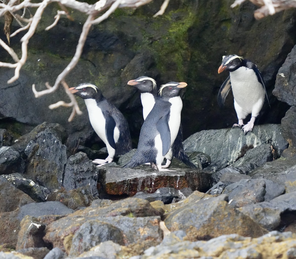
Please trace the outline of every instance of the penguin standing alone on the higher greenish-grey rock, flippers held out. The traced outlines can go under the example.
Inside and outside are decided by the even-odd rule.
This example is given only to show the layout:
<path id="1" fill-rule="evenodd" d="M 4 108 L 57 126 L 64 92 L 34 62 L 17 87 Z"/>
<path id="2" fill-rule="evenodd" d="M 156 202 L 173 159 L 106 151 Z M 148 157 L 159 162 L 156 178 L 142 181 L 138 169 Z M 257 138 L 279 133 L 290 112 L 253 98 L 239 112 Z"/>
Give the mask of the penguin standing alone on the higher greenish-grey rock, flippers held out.
<path id="1" fill-rule="evenodd" d="M 234 96 L 234 109 L 238 118 L 238 124 L 233 124 L 232 128 L 242 128 L 244 134 L 247 134 L 248 131 L 252 132 L 255 119 L 263 106 L 265 96 L 268 101 L 262 75 L 258 67 L 252 61 L 237 55 L 223 56 L 218 73 L 224 70 L 229 71 L 229 77 L 220 88 L 218 104 L 220 107 L 223 106 L 225 98 L 231 88 Z M 250 121 L 244 125 L 243 120 L 250 113 L 252 117 Z"/>

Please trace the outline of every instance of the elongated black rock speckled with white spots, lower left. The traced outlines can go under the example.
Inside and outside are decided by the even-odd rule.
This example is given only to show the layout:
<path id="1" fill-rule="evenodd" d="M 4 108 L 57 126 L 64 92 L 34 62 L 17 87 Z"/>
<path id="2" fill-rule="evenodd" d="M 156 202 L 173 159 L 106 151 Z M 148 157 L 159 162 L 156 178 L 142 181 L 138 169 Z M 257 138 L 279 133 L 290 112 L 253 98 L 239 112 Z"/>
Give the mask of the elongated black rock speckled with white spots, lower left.
<path id="1" fill-rule="evenodd" d="M 35 184 L 34 181 L 27 178 L 24 173 L 12 173 L 9 175 L 3 175 L 11 184 L 17 189 L 28 194 L 36 202 L 45 201 L 49 195 L 49 189 Z"/>

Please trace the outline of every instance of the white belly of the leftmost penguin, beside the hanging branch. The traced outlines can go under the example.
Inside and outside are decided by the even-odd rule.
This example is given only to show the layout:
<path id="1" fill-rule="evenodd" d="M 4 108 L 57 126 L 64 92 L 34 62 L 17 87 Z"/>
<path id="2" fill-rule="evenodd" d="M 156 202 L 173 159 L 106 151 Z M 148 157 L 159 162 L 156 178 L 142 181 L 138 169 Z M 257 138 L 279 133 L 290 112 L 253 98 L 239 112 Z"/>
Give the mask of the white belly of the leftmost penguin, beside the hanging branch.
<path id="1" fill-rule="evenodd" d="M 106 120 L 103 116 L 102 110 L 97 106 L 96 100 L 84 99 L 84 101 L 89 112 L 89 121 L 91 123 L 91 126 L 98 134 L 100 139 L 102 139 L 102 141 L 107 144 L 108 141 L 105 133 Z"/>

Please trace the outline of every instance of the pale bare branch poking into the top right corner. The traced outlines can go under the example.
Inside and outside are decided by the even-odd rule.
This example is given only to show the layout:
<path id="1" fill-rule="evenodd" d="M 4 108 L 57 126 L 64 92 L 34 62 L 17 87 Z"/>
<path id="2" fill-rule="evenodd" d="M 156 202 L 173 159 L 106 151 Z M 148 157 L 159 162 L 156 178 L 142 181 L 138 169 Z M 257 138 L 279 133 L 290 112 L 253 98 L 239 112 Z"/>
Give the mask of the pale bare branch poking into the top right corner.
<path id="1" fill-rule="evenodd" d="M 231 4 L 231 8 L 234 8 L 240 4 L 242 4 L 246 0 L 235 0 L 233 4 Z M 274 15 L 277 12 L 296 8 L 295 0 L 250 0 L 253 4 L 260 6 L 259 9 L 255 10 L 254 17 L 259 20 L 268 15 Z"/>

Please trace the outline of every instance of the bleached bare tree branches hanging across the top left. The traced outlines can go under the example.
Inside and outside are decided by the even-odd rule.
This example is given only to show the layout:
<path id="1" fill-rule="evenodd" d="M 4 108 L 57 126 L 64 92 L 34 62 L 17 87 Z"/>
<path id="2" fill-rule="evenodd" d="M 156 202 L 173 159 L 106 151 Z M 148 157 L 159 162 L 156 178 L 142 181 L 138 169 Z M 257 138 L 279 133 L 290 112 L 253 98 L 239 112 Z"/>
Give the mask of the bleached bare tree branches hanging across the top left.
<path id="1" fill-rule="evenodd" d="M 76 47 L 75 54 L 73 58 L 71 59 L 70 63 L 65 67 L 65 69 L 57 76 L 54 85 L 50 86 L 49 83 L 47 82 L 45 84 L 47 89 L 44 89 L 42 91 L 37 91 L 35 84 L 32 86 L 32 91 L 35 95 L 35 97 L 40 97 L 45 94 L 50 94 L 54 91 L 57 90 L 60 84 L 63 85 L 65 92 L 69 96 L 69 99 L 71 102 L 66 103 L 64 101 L 59 101 L 55 104 L 51 104 L 49 106 L 50 109 L 57 108 L 59 106 L 65 106 L 65 107 L 73 107 L 72 113 L 70 115 L 70 118 L 68 119 L 71 121 L 75 114 L 81 114 L 81 111 L 78 107 L 78 104 L 76 102 L 76 99 L 74 98 L 73 94 L 71 94 L 68 91 L 68 85 L 65 82 L 65 77 L 73 70 L 73 68 L 77 65 L 79 58 L 81 57 L 83 46 L 86 42 L 87 35 L 89 34 L 89 31 L 91 29 L 91 26 L 94 24 L 98 24 L 102 22 L 103 20 L 107 19 L 117 8 L 123 8 L 123 7 L 130 7 L 130 8 L 137 8 L 140 7 L 141 5 L 148 4 L 152 0 L 99 0 L 95 4 L 90 5 L 84 2 L 79 2 L 76 0 L 43 0 L 40 3 L 31 3 L 31 0 L 24 0 L 20 2 L 19 0 L 10 0 L 10 1 L 3 1 L 3 3 L 0 3 L 0 16 L 3 16 L 6 12 L 10 12 L 19 22 L 22 28 L 16 30 L 14 33 L 10 35 L 10 37 L 13 37 L 17 35 L 20 31 L 27 30 L 28 32 L 25 33 L 25 35 L 21 38 L 21 49 L 22 49 L 22 54 L 21 58 L 19 59 L 13 49 L 9 48 L 7 44 L 5 44 L 3 41 L 0 41 L 0 45 L 11 55 L 15 63 L 5 63 L 5 62 L 0 62 L 0 67 L 9 67 L 9 68 L 15 68 L 15 75 L 10 78 L 7 83 L 12 83 L 15 80 L 17 80 L 20 76 L 20 69 L 22 66 L 25 64 L 27 60 L 27 55 L 28 55 L 28 43 L 30 38 L 34 35 L 37 25 L 41 20 L 42 14 L 45 10 L 45 8 L 51 4 L 52 2 L 57 2 L 62 11 L 57 11 L 57 15 L 54 17 L 55 21 L 52 23 L 52 25 L 49 25 L 46 27 L 45 30 L 50 30 L 53 28 L 55 25 L 57 25 L 60 16 L 61 15 L 66 15 L 67 18 L 71 19 L 70 16 L 67 13 L 67 7 L 71 9 L 78 10 L 81 13 L 84 13 L 88 15 L 82 31 L 81 35 L 78 40 L 78 44 Z M 267 0 L 266 0 L 267 1 Z M 165 11 L 167 5 L 168 5 L 169 0 L 165 0 L 160 11 L 157 12 L 155 17 L 157 15 L 163 14 Z M 25 15 L 25 10 L 28 9 L 30 12 L 30 9 L 32 8 L 37 8 L 35 14 L 33 17 L 30 17 L 30 19 L 25 19 L 23 18 Z M 22 10 L 23 15 L 20 16 L 16 12 Z M 104 11 L 104 12 L 103 12 Z M 102 15 L 99 15 L 102 13 Z M 32 16 L 32 15 L 31 15 Z M 22 25 L 21 21 L 27 22 L 27 25 Z"/>

